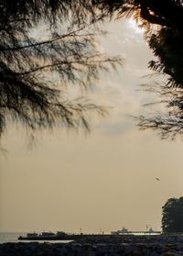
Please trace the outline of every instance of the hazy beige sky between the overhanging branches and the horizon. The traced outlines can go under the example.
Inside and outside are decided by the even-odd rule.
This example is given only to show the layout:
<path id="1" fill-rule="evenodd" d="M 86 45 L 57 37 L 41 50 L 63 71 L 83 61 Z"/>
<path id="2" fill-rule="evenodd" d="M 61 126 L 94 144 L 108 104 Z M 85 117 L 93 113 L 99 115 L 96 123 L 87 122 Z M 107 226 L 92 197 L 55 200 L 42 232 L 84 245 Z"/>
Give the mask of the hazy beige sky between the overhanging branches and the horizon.
<path id="1" fill-rule="evenodd" d="M 2 141 L 8 152 L 0 162 L 0 231 L 160 229 L 161 207 L 182 195 L 183 143 L 139 131 L 128 116 L 152 100 L 137 89 L 150 79 L 142 76 L 154 57 L 132 21 L 107 28 L 101 48 L 121 54 L 124 66 L 102 75 L 88 96 L 113 106 L 110 116 L 93 121 L 89 135 L 39 134 L 33 150 L 27 150 L 26 132 L 8 129 Z"/>

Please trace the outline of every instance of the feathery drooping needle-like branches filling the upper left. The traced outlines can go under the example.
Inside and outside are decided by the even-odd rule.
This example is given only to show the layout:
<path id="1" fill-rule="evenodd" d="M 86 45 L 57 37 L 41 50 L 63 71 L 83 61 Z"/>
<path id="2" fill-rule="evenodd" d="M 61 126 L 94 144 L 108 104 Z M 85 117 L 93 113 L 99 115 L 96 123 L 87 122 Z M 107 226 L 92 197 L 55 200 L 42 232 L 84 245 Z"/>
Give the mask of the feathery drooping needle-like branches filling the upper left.
<path id="1" fill-rule="evenodd" d="M 0 134 L 9 120 L 32 130 L 89 129 L 87 113 L 105 110 L 70 100 L 65 85 L 87 88 L 120 63 L 97 50 L 91 1 L 2 0 L 0 13 Z"/>

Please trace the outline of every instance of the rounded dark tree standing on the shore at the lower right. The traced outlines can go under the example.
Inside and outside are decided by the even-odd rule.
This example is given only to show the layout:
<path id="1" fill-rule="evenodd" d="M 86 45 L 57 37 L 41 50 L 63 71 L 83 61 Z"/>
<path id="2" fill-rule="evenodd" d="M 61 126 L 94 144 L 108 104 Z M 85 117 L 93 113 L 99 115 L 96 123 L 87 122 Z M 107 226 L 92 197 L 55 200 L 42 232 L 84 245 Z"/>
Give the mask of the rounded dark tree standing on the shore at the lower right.
<path id="1" fill-rule="evenodd" d="M 163 232 L 183 232 L 183 197 L 168 199 L 162 209 Z"/>

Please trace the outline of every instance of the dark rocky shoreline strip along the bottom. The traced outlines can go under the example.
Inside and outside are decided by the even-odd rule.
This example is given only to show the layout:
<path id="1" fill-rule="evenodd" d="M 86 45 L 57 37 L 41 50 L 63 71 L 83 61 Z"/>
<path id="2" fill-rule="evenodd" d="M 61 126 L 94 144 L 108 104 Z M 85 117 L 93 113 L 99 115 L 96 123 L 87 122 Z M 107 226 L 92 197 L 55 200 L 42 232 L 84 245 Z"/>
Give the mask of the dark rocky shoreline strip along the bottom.
<path id="1" fill-rule="evenodd" d="M 158 256 L 183 255 L 183 236 L 93 236 L 70 243 L 38 241 L 0 244 L 1 256 Z"/>

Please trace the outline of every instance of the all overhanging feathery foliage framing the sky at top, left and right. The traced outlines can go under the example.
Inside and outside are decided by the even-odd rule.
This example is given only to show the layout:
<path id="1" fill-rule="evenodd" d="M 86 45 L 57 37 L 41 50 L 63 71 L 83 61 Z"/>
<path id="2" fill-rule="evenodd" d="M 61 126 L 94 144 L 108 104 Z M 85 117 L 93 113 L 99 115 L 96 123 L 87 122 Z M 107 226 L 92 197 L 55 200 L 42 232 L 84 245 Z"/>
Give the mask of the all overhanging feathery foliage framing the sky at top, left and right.
<path id="1" fill-rule="evenodd" d="M 60 124 L 89 130 L 88 114 L 104 116 L 106 109 L 70 98 L 67 86 L 88 88 L 97 83 L 101 70 L 121 64 L 120 58 L 97 49 L 96 34 L 102 31 L 95 25 L 133 17 L 145 28 L 156 55 L 149 68 L 164 81 L 145 84 L 145 91 L 156 92 L 166 106 L 154 116 L 137 117 L 138 126 L 156 129 L 162 139 L 182 134 L 182 1 L 6 0 L 0 2 L 0 11 L 0 133 L 9 120 L 32 131 Z"/>

